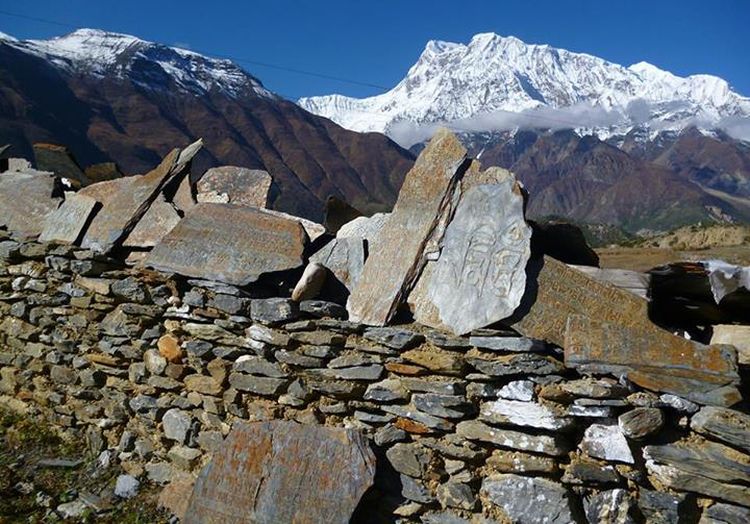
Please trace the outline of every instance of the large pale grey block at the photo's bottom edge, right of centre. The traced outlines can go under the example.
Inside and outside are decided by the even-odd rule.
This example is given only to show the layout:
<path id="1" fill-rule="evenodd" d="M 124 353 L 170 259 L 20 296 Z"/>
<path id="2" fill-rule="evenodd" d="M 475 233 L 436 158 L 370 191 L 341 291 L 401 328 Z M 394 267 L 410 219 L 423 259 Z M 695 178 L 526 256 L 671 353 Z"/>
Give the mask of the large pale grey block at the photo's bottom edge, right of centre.
<path id="1" fill-rule="evenodd" d="M 576 521 L 568 491 L 551 480 L 511 473 L 491 475 L 482 481 L 481 493 L 511 522 L 570 524 Z"/>

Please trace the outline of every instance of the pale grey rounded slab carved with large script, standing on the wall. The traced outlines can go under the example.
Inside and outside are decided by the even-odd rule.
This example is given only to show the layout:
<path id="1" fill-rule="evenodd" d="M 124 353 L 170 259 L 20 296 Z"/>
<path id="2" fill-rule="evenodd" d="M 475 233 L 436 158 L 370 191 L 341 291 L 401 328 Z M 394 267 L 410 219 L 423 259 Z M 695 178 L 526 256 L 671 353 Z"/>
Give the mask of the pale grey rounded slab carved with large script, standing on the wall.
<path id="1" fill-rule="evenodd" d="M 531 228 L 515 177 L 500 168 L 488 169 L 481 177 L 489 183 L 471 184 L 462 194 L 440 256 L 420 279 L 425 287 L 415 288 L 426 292 L 424 299 L 416 300 L 415 319 L 459 335 L 515 311 L 531 255 Z"/>

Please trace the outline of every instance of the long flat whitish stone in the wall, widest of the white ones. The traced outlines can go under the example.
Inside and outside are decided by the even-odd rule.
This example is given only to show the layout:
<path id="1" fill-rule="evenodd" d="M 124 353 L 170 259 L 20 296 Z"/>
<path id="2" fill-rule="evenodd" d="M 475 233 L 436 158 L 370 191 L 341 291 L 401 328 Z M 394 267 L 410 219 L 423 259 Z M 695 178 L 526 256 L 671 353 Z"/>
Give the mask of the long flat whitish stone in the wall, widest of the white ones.
<path id="1" fill-rule="evenodd" d="M 505 399 L 483 402 L 479 418 L 492 424 L 557 431 L 571 429 L 574 422 L 545 405 Z"/>

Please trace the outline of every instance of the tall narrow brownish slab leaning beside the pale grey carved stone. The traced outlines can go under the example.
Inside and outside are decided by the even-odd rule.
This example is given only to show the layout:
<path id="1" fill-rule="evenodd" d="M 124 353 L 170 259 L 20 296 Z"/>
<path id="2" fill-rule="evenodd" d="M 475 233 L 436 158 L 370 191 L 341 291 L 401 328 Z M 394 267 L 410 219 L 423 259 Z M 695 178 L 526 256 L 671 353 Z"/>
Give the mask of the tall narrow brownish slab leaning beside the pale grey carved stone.
<path id="1" fill-rule="evenodd" d="M 424 266 L 426 244 L 452 211 L 466 164 L 466 149 L 450 131 L 439 130 L 407 173 L 378 249 L 370 253 L 349 297 L 352 321 L 383 326 L 393 317 Z"/>

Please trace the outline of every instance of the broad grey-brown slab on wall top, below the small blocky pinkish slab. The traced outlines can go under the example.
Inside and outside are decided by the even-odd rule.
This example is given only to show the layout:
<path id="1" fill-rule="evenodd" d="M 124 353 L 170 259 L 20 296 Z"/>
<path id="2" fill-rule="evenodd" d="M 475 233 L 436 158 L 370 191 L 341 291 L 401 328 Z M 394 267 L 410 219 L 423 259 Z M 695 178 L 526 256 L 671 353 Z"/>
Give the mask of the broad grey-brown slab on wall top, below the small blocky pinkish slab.
<path id="1" fill-rule="evenodd" d="M 146 257 L 169 273 L 235 286 L 303 263 L 307 235 L 295 220 L 253 207 L 198 204 Z"/>

